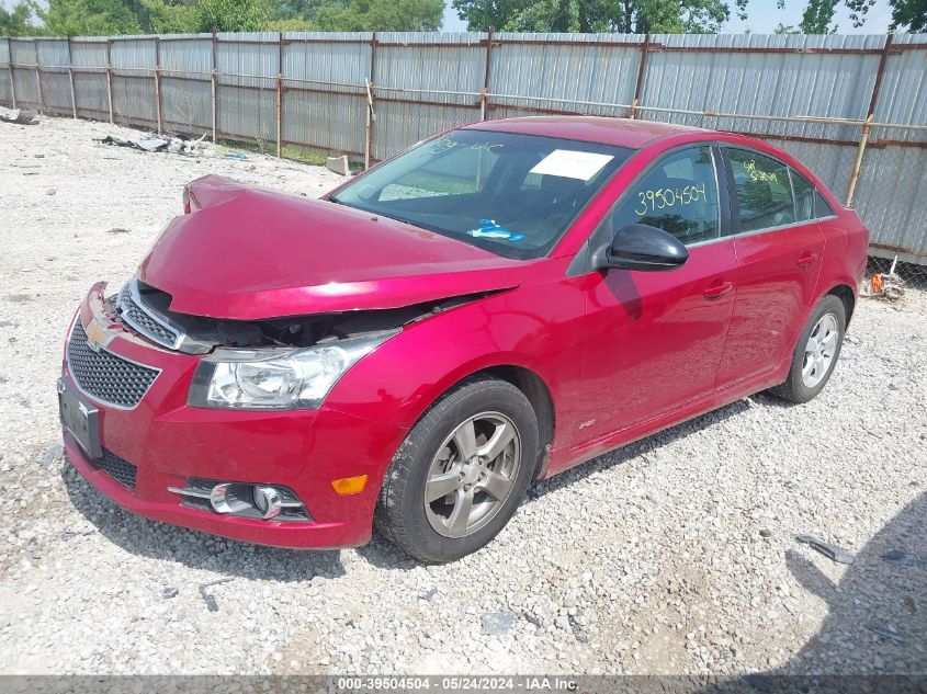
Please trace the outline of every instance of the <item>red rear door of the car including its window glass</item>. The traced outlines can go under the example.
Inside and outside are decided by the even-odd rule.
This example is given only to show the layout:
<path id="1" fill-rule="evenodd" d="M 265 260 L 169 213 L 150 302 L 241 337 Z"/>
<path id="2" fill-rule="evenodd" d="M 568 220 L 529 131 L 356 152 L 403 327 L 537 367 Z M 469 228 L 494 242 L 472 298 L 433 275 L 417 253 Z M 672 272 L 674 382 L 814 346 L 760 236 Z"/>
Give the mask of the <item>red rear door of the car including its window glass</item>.
<path id="1" fill-rule="evenodd" d="M 738 268 L 719 387 L 759 376 L 791 355 L 824 255 L 814 187 L 768 155 L 733 146 L 722 153 Z"/>

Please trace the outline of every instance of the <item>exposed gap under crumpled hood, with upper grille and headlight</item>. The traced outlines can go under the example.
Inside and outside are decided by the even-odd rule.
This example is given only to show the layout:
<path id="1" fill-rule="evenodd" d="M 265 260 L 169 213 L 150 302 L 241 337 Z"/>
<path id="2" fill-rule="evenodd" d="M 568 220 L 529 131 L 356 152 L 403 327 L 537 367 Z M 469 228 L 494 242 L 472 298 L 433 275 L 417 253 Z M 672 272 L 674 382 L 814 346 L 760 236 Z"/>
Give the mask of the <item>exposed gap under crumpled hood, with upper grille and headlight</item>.
<path id="1" fill-rule="evenodd" d="M 189 316 L 133 278 L 111 299 L 111 318 L 161 348 L 203 355 L 188 405 L 221 409 L 316 409 L 360 359 L 404 326 L 484 296 L 395 309 L 263 320 Z"/>

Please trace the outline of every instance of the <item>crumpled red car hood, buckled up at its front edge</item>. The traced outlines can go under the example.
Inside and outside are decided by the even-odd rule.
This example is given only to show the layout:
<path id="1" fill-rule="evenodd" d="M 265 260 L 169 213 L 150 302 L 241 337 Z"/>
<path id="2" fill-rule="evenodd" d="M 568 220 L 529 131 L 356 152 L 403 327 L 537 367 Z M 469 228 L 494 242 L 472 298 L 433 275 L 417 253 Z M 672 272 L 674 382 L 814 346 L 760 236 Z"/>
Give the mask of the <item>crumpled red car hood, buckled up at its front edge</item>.
<path id="1" fill-rule="evenodd" d="M 228 319 L 400 308 L 507 289 L 533 263 L 318 200 L 205 177 L 139 278 L 170 309 Z"/>

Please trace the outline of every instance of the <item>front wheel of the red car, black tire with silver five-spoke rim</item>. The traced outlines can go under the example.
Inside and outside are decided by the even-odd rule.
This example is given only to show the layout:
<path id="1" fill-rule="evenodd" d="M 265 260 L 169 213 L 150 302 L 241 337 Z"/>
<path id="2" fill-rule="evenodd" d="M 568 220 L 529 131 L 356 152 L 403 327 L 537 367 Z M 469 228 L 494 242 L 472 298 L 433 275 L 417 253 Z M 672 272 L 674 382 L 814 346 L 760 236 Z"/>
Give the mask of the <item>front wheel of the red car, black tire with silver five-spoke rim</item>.
<path id="1" fill-rule="evenodd" d="M 472 554 L 515 515 L 536 473 L 538 446 L 538 418 L 521 390 L 497 378 L 468 378 L 432 405 L 399 446 L 374 524 L 421 561 Z M 490 458 L 495 448 L 501 452 Z"/>

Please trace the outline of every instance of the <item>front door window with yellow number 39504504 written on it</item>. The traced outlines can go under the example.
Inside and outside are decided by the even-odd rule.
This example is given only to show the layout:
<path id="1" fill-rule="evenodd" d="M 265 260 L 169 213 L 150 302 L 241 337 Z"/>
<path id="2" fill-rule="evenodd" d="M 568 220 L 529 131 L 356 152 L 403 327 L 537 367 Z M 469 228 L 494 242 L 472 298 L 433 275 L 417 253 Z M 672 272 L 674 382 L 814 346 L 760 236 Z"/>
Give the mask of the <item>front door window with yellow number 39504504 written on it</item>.
<path id="1" fill-rule="evenodd" d="M 717 209 L 711 147 L 691 147 L 667 155 L 632 183 L 604 224 L 610 232 L 646 224 L 691 244 L 720 236 Z"/>

